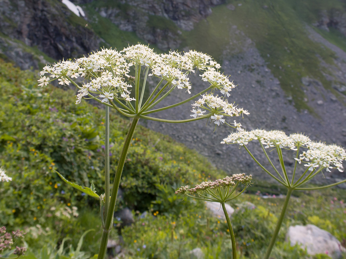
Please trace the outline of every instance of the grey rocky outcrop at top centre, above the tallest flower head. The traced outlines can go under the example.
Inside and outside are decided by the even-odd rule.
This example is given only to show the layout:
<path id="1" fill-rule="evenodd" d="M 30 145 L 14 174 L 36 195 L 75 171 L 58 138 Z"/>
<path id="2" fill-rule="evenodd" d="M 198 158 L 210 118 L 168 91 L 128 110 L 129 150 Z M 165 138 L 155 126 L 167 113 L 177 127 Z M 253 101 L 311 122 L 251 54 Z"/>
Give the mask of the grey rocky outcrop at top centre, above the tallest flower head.
<path id="1" fill-rule="evenodd" d="M 80 0 L 75 0 L 80 3 Z M 97 11 L 124 31 L 156 44 L 160 49 L 177 48 L 180 31 L 193 29 L 193 23 L 211 14 L 211 7 L 225 0 L 123 0 L 115 7 L 100 7 Z"/>

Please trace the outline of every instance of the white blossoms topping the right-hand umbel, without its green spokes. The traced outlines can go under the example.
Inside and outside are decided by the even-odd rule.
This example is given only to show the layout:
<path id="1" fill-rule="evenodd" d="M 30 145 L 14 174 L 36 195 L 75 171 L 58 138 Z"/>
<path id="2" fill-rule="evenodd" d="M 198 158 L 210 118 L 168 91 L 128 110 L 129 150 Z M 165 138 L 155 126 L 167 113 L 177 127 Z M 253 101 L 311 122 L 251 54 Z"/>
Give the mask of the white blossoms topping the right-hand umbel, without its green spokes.
<path id="1" fill-rule="evenodd" d="M 310 171 L 320 166 L 322 169 L 326 168 L 328 172 L 330 168 L 337 168 L 343 172 L 342 162 L 346 160 L 346 151 L 343 147 L 314 142 L 303 134 L 295 133 L 287 136 L 283 131 L 277 130 L 242 131 L 230 134 L 221 143 L 237 143 L 243 146 L 252 140 L 260 141 L 265 148 L 279 147 L 291 150 L 305 148 L 306 150 L 299 154 L 299 159 L 295 158 L 295 160 L 299 163 L 303 161 L 304 166 L 309 167 Z"/>

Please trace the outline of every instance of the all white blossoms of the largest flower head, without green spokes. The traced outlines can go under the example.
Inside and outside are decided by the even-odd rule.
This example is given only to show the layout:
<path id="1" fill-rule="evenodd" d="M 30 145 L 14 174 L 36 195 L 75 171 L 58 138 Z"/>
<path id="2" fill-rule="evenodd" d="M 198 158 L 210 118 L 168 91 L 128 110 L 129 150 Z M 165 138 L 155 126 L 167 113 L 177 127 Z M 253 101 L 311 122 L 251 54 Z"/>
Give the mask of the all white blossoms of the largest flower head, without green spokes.
<path id="1" fill-rule="evenodd" d="M 218 71 L 220 65 L 206 54 L 192 50 L 183 54 L 176 51 L 170 51 L 169 54 L 156 54 L 153 49 L 141 44 L 129 46 L 122 51 L 101 49 L 88 57 L 75 61 L 62 60 L 54 65 L 45 66 L 40 72 L 41 78 L 38 82 L 39 86 L 46 86 L 50 81 L 56 79 L 61 85 L 72 83 L 79 88 L 76 104 L 79 104 L 82 98 L 95 98 L 102 103 L 110 103 L 113 106 L 118 103 L 124 107 L 119 100 L 138 102 L 134 98 L 138 96 L 138 93 L 131 95 L 130 89 L 134 78 L 128 73 L 130 67 L 137 69 L 142 66 L 147 69 L 145 70 L 147 73 L 150 69 L 148 76 L 166 80 L 167 86 L 184 88 L 189 94 L 191 84 L 188 75 L 194 73 L 194 69 L 202 71 L 201 79 L 210 83 L 208 89 L 211 90 L 211 93 L 219 90 L 222 95 L 229 97 L 229 92 L 235 87 L 227 76 Z M 49 76 L 46 77 L 46 75 Z M 82 86 L 73 81 L 78 77 L 85 78 Z M 131 108 L 124 108 L 125 110 L 122 111 L 133 111 Z M 222 118 L 224 116 L 249 114 L 246 110 L 229 104 L 227 99 L 212 94 L 203 95 L 199 101 L 193 104 L 191 116 L 197 118 L 204 115 L 206 111 L 203 112 L 202 109 L 208 110 L 207 117 L 211 117 L 216 125 L 225 123 L 225 119 Z M 131 112 L 129 113 L 131 114 Z M 240 126 L 241 124 L 235 122 L 238 130 L 241 130 Z"/>

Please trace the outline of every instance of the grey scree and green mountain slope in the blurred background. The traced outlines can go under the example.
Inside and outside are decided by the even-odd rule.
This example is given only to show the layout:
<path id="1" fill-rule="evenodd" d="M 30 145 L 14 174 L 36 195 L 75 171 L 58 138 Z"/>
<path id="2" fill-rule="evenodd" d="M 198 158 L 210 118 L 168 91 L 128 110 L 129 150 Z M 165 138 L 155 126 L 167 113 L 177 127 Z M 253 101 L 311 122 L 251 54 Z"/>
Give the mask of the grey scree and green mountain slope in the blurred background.
<path id="1" fill-rule="evenodd" d="M 21 2 L 12 1 L 11 7 L 0 8 L 0 25 L 2 28 L 6 25 L 0 36 L 37 46 L 55 59 L 82 55 L 100 46 L 121 49 L 138 41 L 150 43 L 157 51 L 179 48 L 206 52 L 216 58 L 224 73 L 238 84 L 229 100 L 251 113 L 241 121 L 245 128 L 304 132 L 314 140 L 346 146 L 344 0 L 73 2 L 83 8 L 84 18 L 76 16 L 59 1 L 31 0 L 34 8 L 25 5 L 25 10 L 31 13 L 27 22 L 20 12 Z M 17 20 L 11 20 L 11 12 L 15 12 Z M 50 22 L 43 24 L 43 17 L 48 17 Z M 20 29 L 32 28 L 34 21 L 40 21 L 37 28 L 45 31 L 38 33 L 37 29 L 35 33 L 27 33 Z M 318 38 L 319 35 L 324 38 Z M 43 41 L 45 37 L 50 39 L 51 45 L 43 44 L 49 42 Z M 2 53 L 9 59 L 16 56 L 8 54 L 12 53 L 11 49 Z M 196 92 L 200 87 L 197 77 L 190 77 Z M 157 116 L 186 119 L 190 110 L 187 104 L 171 114 Z M 206 127 L 199 122 L 143 124 L 195 148 L 228 172 L 251 172 L 263 177 L 244 151 L 219 144 L 229 128 L 220 127 L 213 133 L 212 125 Z M 259 150 L 254 154 L 261 157 Z M 340 177 L 334 173 L 326 176 L 331 182 L 335 181 L 332 177 Z"/>

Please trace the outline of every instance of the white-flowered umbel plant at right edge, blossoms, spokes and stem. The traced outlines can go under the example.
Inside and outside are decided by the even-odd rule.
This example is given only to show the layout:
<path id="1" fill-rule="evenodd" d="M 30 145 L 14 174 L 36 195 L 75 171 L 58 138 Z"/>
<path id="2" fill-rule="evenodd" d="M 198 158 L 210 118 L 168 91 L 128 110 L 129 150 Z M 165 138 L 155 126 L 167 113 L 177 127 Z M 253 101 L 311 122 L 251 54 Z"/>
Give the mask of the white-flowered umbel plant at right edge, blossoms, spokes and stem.
<path id="1" fill-rule="evenodd" d="M 273 170 L 266 169 L 248 150 L 247 144 L 250 141 L 258 140 L 261 148 L 270 163 Z M 271 242 L 267 248 L 265 259 L 268 259 L 270 253 L 274 247 L 277 235 L 279 234 L 283 218 L 286 213 L 286 209 L 291 197 L 291 194 L 294 190 L 319 190 L 335 186 L 340 183 L 346 182 L 346 179 L 337 183 L 319 186 L 315 188 L 304 188 L 301 187 L 303 184 L 306 184 L 310 181 L 316 174 L 326 169 L 327 172 L 330 172 L 331 168 L 336 168 L 340 172 L 343 172 L 343 161 L 346 160 L 346 151 L 343 147 L 337 145 L 326 145 L 321 142 L 311 141 L 309 137 L 303 134 L 291 134 L 287 136 L 282 131 L 265 131 L 265 130 L 253 130 L 253 131 L 239 131 L 233 134 L 230 134 L 225 138 L 222 144 L 239 144 L 240 147 L 244 147 L 245 150 L 249 153 L 252 159 L 272 178 L 277 182 L 282 184 L 287 188 L 286 200 L 283 205 L 283 209 L 280 214 L 280 218 L 276 224 L 276 228 L 271 239 Z M 277 152 L 280 161 L 280 167 L 277 169 L 272 161 L 270 160 L 266 149 L 271 148 Z M 292 172 L 291 179 L 286 170 L 284 159 L 282 155 L 282 149 L 292 150 L 295 152 L 295 163 Z M 300 153 L 301 152 L 301 153 Z M 302 172 L 298 178 L 297 176 L 297 166 L 298 164 L 304 165 Z M 297 179 L 298 178 L 298 179 Z"/>

